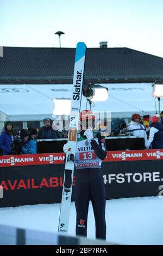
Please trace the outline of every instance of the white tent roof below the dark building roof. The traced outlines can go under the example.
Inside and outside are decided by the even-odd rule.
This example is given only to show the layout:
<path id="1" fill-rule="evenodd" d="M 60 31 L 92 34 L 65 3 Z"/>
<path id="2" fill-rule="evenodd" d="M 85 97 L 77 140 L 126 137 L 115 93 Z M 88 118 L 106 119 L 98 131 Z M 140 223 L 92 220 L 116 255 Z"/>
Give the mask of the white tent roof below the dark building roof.
<path id="1" fill-rule="evenodd" d="M 130 118 L 133 113 L 143 115 L 155 113 L 152 83 L 112 83 L 101 86 L 109 89 L 108 100 L 95 102 L 92 111 L 110 111 L 111 118 Z M 52 118 L 53 99 L 71 98 L 71 94 L 72 84 L 1 84 L 0 121 Z M 156 105 L 158 106 L 157 101 Z M 89 108 L 89 104 L 87 107 Z M 81 110 L 83 109 L 86 109 L 85 97 L 82 99 Z"/>

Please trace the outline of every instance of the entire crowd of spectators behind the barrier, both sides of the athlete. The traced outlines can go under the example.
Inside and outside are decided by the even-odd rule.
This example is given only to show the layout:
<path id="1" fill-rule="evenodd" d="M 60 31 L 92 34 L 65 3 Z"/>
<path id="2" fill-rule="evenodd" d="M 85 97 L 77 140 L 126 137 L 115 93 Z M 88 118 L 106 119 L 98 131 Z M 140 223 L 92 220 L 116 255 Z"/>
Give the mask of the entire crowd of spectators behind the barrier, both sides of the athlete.
<path id="1" fill-rule="evenodd" d="M 65 138 L 65 135 L 54 129 L 52 123 L 51 119 L 45 118 L 39 131 L 29 127 L 17 132 L 11 121 L 7 121 L 0 135 L 0 155 L 36 154 L 36 139 Z M 111 123 L 110 136 L 144 138 L 145 149 L 163 149 L 163 112 L 160 114 L 160 121 L 157 114 L 150 121 L 149 115 L 141 117 L 136 113 L 132 115 L 129 124 L 124 119 L 116 119 Z"/>

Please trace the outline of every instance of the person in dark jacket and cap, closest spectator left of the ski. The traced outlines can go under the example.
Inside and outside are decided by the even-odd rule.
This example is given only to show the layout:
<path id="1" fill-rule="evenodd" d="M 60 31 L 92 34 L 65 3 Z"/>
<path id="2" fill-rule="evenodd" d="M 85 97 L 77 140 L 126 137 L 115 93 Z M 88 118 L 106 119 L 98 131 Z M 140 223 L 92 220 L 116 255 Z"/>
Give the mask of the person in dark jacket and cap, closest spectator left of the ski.
<path id="1" fill-rule="evenodd" d="M 60 138 L 59 132 L 52 128 L 52 120 L 49 118 L 43 119 L 43 124 L 38 132 L 37 139 L 57 139 Z"/>

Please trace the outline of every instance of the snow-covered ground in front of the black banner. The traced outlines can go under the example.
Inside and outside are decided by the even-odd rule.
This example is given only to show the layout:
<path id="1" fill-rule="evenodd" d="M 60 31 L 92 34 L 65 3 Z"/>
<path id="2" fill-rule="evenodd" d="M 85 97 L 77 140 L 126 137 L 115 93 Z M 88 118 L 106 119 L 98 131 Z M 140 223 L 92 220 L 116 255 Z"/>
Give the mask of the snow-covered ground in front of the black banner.
<path id="1" fill-rule="evenodd" d="M 0 224 L 42 231 L 58 231 L 60 204 L 0 209 Z M 76 210 L 71 203 L 68 234 L 75 235 Z M 163 200 L 158 197 L 106 201 L 106 240 L 124 245 L 163 245 Z M 95 239 L 92 205 L 87 237 Z"/>

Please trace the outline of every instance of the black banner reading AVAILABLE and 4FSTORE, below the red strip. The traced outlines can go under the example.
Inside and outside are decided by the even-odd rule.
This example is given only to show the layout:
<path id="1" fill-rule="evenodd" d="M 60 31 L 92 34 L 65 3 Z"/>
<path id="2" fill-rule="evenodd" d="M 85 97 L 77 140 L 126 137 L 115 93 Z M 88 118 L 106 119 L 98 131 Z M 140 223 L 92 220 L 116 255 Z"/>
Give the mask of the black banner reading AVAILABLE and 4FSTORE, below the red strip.
<path id="1" fill-rule="evenodd" d="M 162 193 L 162 160 L 120 159 L 121 161 L 102 163 L 106 199 L 158 196 Z M 64 164 L 1 167 L 0 185 L 3 187 L 3 198 L 0 198 L 0 207 L 60 203 L 63 175 Z M 74 185 L 75 172 L 72 200 Z"/>

